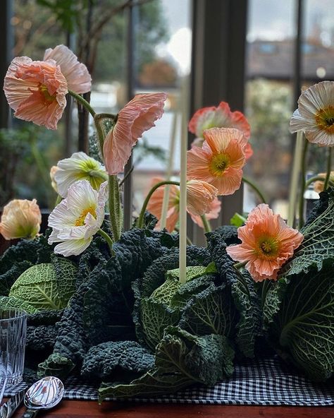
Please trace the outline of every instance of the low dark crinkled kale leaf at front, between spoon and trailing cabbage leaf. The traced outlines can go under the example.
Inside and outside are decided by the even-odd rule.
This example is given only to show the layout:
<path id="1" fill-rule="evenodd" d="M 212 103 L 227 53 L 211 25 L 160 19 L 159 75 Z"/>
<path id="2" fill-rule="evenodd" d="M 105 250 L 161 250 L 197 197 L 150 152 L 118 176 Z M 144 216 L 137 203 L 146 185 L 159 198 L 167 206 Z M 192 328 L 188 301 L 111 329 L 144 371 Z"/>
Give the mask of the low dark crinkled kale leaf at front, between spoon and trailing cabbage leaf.
<path id="1" fill-rule="evenodd" d="M 86 354 L 85 378 L 125 381 L 139 377 L 154 365 L 154 356 L 135 341 L 109 341 L 94 345 Z"/>

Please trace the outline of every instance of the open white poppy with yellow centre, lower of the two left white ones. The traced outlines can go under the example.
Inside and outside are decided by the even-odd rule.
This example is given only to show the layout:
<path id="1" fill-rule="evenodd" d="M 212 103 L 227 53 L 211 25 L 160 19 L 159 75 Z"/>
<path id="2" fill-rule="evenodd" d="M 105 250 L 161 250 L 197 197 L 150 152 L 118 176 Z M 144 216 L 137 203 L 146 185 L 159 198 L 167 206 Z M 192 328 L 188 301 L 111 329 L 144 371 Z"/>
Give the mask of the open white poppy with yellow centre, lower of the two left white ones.
<path id="1" fill-rule="evenodd" d="M 49 215 L 53 228 L 49 244 L 60 242 L 54 252 L 63 256 L 78 256 L 89 246 L 93 235 L 104 221 L 104 206 L 108 199 L 108 183 L 97 192 L 89 181 L 76 181 L 68 189 L 68 196 Z"/>

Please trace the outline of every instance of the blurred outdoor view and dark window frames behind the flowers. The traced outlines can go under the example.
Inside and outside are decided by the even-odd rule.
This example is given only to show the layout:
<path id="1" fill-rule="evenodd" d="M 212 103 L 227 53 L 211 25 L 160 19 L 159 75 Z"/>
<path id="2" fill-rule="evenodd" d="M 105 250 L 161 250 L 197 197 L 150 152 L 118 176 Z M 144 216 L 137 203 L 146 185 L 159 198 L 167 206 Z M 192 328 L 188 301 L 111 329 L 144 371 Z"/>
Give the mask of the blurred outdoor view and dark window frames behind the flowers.
<path id="1" fill-rule="evenodd" d="M 0 28 L 1 78 L 13 56 L 42 59 L 45 49 L 63 43 L 92 74 L 86 98 L 97 112 L 117 113 L 137 92 L 168 93 L 163 117 L 135 147 L 125 181 L 129 207 L 139 208 L 150 179 L 166 172 L 188 85 L 189 116 L 221 100 L 245 113 L 254 150 L 245 174 L 286 215 L 295 145 L 288 124 L 297 97 L 301 88 L 334 80 L 333 0 L 2 0 Z M 0 123 L 0 207 L 15 197 L 52 208 L 50 167 L 89 144 L 96 152 L 91 121 L 71 100 L 58 130 L 48 131 L 13 119 L 1 96 Z M 175 175 L 179 160 L 177 145 Z M 308 169 L 323 172 L 321 148 Z M 257 203 L 245 186 L 223 199 L 218 223 Z"/>

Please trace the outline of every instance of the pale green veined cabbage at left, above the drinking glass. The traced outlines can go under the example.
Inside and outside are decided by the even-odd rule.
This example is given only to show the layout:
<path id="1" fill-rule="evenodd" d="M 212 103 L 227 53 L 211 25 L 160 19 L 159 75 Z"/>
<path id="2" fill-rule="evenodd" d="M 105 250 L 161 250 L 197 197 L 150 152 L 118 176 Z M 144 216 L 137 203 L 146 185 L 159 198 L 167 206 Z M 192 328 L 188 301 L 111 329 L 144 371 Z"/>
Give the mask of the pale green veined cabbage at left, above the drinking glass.
<path id="1" fill-rule="evenodd" d="M 25 270 L 11 287 L 9 296 L 36 309 L 62 309 L 75 291 L 76 273 L 75 264 L 55 257 L 54 263 L 37 264 Z"/>

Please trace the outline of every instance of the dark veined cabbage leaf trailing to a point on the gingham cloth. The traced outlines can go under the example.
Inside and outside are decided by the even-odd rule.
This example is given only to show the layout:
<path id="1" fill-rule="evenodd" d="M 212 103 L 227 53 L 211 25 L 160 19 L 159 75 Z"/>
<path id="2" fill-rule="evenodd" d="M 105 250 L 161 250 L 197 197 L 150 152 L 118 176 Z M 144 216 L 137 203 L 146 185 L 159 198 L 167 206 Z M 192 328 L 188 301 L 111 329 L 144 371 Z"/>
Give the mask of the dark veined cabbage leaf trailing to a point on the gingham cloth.
<path id="1" fill-rule="evenodd" d="M 197 337 L 168 327 L 156 347 L 155 366 L 129 384 L 102 384 L 99 402 L 108 397 L 173 393 L 195 383 L 212 386 L 233 373 L 233 357 L 233 349 L 223 335 Z"/>

